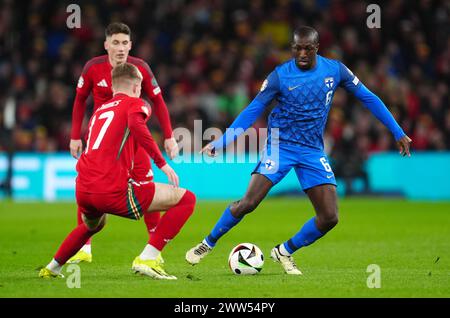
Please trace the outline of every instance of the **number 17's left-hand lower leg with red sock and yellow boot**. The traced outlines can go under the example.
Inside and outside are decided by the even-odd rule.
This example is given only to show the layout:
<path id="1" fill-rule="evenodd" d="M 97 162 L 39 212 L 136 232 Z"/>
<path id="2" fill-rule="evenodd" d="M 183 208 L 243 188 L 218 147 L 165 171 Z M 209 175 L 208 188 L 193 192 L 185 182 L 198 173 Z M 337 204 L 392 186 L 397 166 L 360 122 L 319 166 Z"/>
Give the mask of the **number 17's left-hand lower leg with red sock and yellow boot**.
<path id="1" fill-rule="evenodd" d="M 95 233 L 99 232 L 105 225 L 106 216 L 95 219 L 88 219 L 83 215 L 83 223 L 78 225 L 70 234 L 66 237 L 64 242 L 59 247 L 55 256 L 51 262 L 41 269 L 39 277 L 51 278 L 51 277 L 63 277 L 61 269 L 65 263 L 73 256 L 86 241 L 92 237 Z"/>

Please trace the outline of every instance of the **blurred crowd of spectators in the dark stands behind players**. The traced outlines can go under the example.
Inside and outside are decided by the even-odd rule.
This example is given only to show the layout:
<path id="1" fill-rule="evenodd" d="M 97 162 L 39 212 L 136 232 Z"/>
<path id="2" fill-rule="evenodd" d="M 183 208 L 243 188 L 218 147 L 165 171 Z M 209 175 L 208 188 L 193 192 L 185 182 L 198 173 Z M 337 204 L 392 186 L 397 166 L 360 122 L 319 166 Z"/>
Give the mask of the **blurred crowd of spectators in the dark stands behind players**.
<path id="1" fill-rule="evenodd" d="M 201 119 L 203 129 L 223 130 L 291 57 L 292 31 L 306 24 L 319 32 L 319 54 L 341 60 L 385 102 L 413 151 L 450 149 L 449 2 L 386 1 L 381 28 L 369 29 L 371 2 L 3 0 L 0 131 L 8 128 L 4 109 L 15 105 L 16 151 L 67 151 L 78 77 L 86 61 L 105 54 L 113 21 L 130 26 L 131 55 L 152 68 L 174 128 L 193 130 Z M 70 3 L 80 5 L 79 29 L 66 26 Z M 156 120 L 150 125 L 160 139 Z M 325 143 L 337 173 L 357 174 L 371 153 L 395 149 L 389 131 L 345 90 L 335 94 Z"/>

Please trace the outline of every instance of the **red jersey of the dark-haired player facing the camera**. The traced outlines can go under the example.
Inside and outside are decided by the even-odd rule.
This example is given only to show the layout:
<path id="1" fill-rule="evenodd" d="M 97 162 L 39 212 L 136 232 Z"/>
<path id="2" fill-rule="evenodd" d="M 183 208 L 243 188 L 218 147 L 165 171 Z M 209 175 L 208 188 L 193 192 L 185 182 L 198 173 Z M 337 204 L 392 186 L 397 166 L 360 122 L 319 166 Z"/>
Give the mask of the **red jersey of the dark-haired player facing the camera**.
<path id="1" fill-rule="evenodd" d="M 161 97 L 161 88 L 158 86 L 155 76 L 149 65 L 142 59 L 128 56 L 127 62 L 135 65 L 142 74 L 142 91 L 154 103 L 155 115 L 161 124 L 165 138 L 172 136 L 172 126 L 167 107 Z M 82 74 L 78 79 L 77 98 L 80 97 L 82 103 L 74 103 L 72 114 L 72 139 L 80 139 L 81 124 L 83 121 L 86 104 L 85 100 L 92 92 L 94 99 L 94 111 L 112 98 L 112 65 L 109 62 L 108 55 L 94 57 L 89 60 L 83 68 Z"/>

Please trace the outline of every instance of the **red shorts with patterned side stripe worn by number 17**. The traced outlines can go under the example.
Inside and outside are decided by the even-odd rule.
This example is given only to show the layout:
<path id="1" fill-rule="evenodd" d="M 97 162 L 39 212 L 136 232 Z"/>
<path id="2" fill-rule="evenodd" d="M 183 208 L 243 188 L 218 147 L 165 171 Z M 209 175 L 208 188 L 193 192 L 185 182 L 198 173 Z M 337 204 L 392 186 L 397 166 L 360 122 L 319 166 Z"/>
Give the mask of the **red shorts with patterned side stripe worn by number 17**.
<path id="1" fill-rule="evenodd" d="M 114 214 L 139 220 L 155 195 L 153 182 L 129 182 L 124 193 L 89 193 L 76 191 L 77 204 L 87 218 L 98 218 L 103 214 Z"/>

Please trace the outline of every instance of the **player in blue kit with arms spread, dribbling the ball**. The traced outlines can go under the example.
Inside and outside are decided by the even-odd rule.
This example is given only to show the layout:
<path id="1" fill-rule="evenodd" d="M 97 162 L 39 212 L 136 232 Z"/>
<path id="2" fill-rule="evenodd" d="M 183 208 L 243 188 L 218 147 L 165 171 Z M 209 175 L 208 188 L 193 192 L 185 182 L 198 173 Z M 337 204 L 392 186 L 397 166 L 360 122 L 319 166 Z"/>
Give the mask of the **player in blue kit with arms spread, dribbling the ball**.
<path id="1" fill-rule="evenodd" d="M 269 115 L 268 138 L 252 173 L 244 197 L 228 206 L 205 239 L 186 253 L 186 260 L 198 264 L 220 237 L 255 210 L 269 190 L 295 170 L 303 191 L 315 209 L 315 216 L 288 240 L 275 246 L 271 257 L 287 274 L 301 275 L 292 254 L 314 243 L 338 223 L 336 180 L 323 147 L 323 132 L 334 92 L 338 86 L 352 93 L 393 134 L 400 154 L 410 156 L 411 139 L 403 132 L 384 103 L 341 62 L 317 54 L 319 35 L 311 27 L 294 31 L 294 57 L 277 66 L 260 92 L 239 114 L 222 138 L 203 148 L 214 156 L 249 128 L 272 100 L 278 104 Z"/>

